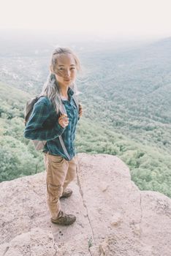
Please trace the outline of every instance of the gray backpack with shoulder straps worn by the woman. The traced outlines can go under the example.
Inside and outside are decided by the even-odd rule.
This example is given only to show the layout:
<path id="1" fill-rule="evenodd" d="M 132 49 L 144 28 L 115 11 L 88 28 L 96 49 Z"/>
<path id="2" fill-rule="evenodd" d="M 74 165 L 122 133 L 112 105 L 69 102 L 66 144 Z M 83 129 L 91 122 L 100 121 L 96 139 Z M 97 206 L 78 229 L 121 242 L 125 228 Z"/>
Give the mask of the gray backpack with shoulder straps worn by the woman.
<path id="1" fill-rule="evenodd" d="M 42 96 L 37 95 L 36 97 L 33 97 L 33 98 L 29 99 L 26 102 L 26 107 L 25 107 L 25 110 L 24 110 L 24 124 L 25 124 L 25 126 L 28 122 L 29 117 L 31 116 L 32 110 L 34 108 L 34 104 L 38 101 L 38 99 L 40 97 L 44 97 L 44 96 L 43 95 Z M 77 110 L 79 111 L 79 103 L 78 103 L 77 97 L 75 97 L 75 95 L 73 95 L 72 98 L 74 99 Z M 66 109 L 64 107 L 64 104 L 62 104 L 62 108 L 63 108 L 63 112 L 66 113 Z M 66 151 L 66 147 L 64 146 L 64 141 L 63 141 L 61 135 L 58 138 L 60 140 L 61 147 L 63 148 L 65 154 L 67 155 L 67 157 L 69 157 L 69 154 Z M 34 147 L 36 148 L 36 150 L 42 150 L 44 148 L 45 144 L 47 143 L 46 140 L 32 140 L 32 142 L 34 143 Z"/>

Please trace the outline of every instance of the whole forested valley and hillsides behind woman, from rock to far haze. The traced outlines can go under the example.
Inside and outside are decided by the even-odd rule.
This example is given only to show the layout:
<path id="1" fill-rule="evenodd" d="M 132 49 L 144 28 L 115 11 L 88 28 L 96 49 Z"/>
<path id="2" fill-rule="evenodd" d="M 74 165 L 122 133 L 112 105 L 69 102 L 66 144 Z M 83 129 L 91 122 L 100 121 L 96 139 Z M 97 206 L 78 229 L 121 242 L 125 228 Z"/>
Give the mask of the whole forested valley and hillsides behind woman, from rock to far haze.
<path id="1" fill-rule="evenodd" d="M 87 51 L 86 46 L 84 50 L 75 47 L 83 67 L 77 87 L 84 108 L 77 129 L 77 152 L 115 154 L 129 166 L 140 189 L 168 196 L 170 45 L 171 39 L 165 39 L 125 50 L 113 50 L 111 45 Z M 23 138 L 23 108 L 45 82 L 47 51 L 42 56 L 22 54 L 11 56 L 10 61 L 5 56 L 1 59 L 1 181 L 44 170 L 42 154 Z"/>

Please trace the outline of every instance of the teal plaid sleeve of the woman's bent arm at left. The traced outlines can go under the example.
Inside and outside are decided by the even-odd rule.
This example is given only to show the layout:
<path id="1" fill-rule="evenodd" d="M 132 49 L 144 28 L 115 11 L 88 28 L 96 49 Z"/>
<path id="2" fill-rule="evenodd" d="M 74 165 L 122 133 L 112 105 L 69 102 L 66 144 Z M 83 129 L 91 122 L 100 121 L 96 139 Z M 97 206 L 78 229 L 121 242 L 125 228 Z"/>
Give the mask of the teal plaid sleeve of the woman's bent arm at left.
<path id="1" fill-rule="evenodd" d="M 24 137 L 31 140 L 53 140 L 60 136 L 64 129 L 58 124 L 58 118 L 56 115 L 56 122 L 51 129 L 45 129 L 43 124 L 45 120 L 50 116 L 50 105 L 47 102 L 40 101 L 34 105 L 33 111 L 26 124 L 24 130 Z"/>

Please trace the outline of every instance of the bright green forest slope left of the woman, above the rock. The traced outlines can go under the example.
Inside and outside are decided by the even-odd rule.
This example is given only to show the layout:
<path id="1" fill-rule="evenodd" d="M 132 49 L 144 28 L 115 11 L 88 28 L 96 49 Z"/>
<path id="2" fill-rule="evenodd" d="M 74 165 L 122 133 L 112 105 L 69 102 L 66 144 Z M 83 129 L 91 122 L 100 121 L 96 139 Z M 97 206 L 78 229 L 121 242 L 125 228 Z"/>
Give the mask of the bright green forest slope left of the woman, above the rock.
<path id="1" fill-rule="evenodd" d="M 23 110 L 29 98 L 26 92 L 0 83 L 0 181 L 43 170 L 42 155 L 23 138 Z"/>

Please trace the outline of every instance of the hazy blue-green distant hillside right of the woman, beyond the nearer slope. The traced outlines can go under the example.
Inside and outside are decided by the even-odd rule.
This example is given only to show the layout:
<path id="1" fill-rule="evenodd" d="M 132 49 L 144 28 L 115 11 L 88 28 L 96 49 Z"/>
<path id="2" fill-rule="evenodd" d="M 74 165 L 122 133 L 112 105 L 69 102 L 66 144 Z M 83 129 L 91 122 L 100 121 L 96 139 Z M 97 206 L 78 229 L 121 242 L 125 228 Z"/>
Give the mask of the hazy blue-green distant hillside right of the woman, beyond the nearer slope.
<path id="1" fill-rule="evenodd" d="M 98 52 L 91 64 L 80 83 L 87 116 L 170 152 L 171 39 L 121 53 Z"/>

